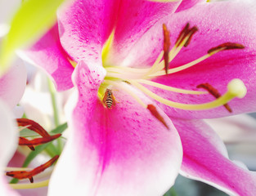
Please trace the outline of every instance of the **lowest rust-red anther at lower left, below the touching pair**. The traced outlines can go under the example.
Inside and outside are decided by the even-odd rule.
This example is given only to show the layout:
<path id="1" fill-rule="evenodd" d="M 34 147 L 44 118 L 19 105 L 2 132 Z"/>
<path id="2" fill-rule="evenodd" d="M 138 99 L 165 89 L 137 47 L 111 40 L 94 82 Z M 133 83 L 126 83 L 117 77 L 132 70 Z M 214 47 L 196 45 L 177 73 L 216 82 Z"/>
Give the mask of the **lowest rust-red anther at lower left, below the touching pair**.
<path id="1" fill-rule="evenodd" d="M 38 173 L 41 173 L 44 170 L 46 170 L 48 167 L 51 167 L 52 164 L 55 163 L 59 157 L 60 157 L 60 155 L 56 155 L 55 157 L 53 157 L 52 159 L 47 161 L 47 163 L 44 163 L 43 165 L 40 165 L 40 166 L 34 168 L 34 170 L 31 170 L 31 171 L 7 171 L 6 175 L 17 178 L 17 179 L 28 178 L 30 180 L 30 182 L 33 183 L 34 182 L 33 176 L 36 176 L 36 175 L 38 175 Z"/>

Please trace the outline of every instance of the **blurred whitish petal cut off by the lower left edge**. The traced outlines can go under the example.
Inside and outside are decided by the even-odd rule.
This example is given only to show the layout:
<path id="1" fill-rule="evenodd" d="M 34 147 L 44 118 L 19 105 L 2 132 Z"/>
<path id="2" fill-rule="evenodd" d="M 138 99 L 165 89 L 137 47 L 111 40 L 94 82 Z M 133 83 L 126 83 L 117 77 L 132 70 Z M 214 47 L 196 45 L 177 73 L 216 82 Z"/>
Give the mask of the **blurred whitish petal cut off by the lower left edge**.
<path id="1" fill-rule="evenodd" d="M 11 114 L 7 104 L 0 100 L 0 168 L 7 166 L 7 163 L 14 154 L 18 144 L 18 131 L 16 130 L 16 122 Z M 17 196 L 13 190 L 7 185 L 7 180 L 0 171 L 0 195 Z"/>

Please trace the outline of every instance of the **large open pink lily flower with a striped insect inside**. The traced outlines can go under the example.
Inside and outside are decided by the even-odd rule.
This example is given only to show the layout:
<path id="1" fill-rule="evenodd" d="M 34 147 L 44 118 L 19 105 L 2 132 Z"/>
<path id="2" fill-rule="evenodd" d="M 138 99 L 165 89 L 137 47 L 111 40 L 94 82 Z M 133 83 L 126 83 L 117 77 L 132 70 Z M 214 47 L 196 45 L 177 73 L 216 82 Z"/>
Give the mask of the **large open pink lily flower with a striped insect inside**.
<path id="1" fill-rule="evenodd" d="M 200 120 L 255 111 L 254 10 L 253 1 L 76 0 L 60 11 L 27 51 L 58 90 L 78 91 L 48 194 L 161 195 L 180 172 L 254 195 L 255 174 L 232 163 Z M 196 88 L 205 83 L 223 96 Z"/>

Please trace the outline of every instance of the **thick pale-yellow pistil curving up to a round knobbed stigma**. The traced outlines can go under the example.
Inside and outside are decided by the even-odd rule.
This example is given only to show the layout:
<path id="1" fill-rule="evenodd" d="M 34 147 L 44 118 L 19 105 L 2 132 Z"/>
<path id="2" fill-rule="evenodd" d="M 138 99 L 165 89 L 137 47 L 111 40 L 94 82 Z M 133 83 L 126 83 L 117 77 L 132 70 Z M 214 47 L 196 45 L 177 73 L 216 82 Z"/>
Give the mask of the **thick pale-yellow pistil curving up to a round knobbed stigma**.
<path id="1" fill-rule="evenodd" d="M 236 83 L 236 85 L 239 85 L 239 87 L 235 87 L 235 85 L 232 85 L 232 84 L 230 85 L 229 84 L 228 85 L 228 91 L 223 96 L 218 98 L 217 100 L 213 100 L 213 101 L 211 101 L 209 103 L 205 103 L 205 104 L 189 105 L 189 104 L 177 103 L 177 102 L 174 102 L 174 101 L 171 101 L 171 100 L 166 100 L 163 97 L 157 96 L 154 92 L 148 90 L 146 87 L 143 87 L 138 82 L 133 82 L 132 80 L 129 81 L 129 82 L 131 82 L 131 84 L 134 87 L 137 87 L 138 89 L 143 91 L 147 96 L 150 96 L 152 99 L 157 100 L 157 101 L 159 101 L 160 103 L 162 103 L 164 105 L 168 105 L 170 107 L 177 108 L 177 109 L 186 109 L 186 110 L 213 109 L 213 108 L 216 108 L 218 106 L 227 104 L 228 101 L 232 100 L 236 96 L 241 97 L 241 94 L 244 95 L 246 93 L 245 85 L 244 85 L 243 82 L 240 81 L 239 84 Z M 233 88 L 231 89 L 230 86 L 233 87 Z"/>

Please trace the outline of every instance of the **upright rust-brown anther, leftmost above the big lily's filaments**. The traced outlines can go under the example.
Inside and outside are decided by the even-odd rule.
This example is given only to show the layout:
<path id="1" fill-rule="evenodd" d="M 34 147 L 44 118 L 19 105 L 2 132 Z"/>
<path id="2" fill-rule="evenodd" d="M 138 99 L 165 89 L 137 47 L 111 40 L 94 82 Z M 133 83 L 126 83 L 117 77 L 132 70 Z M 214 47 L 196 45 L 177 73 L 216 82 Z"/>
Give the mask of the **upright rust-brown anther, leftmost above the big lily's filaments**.
<path id="1" fill-rule="evenodd" d="M 170 32 L 168 31 L 165 24 L 163 24 L 164 31 L 164 69 L 165 73 L 168 74 L 168 53 L 170 51 Z"/>

